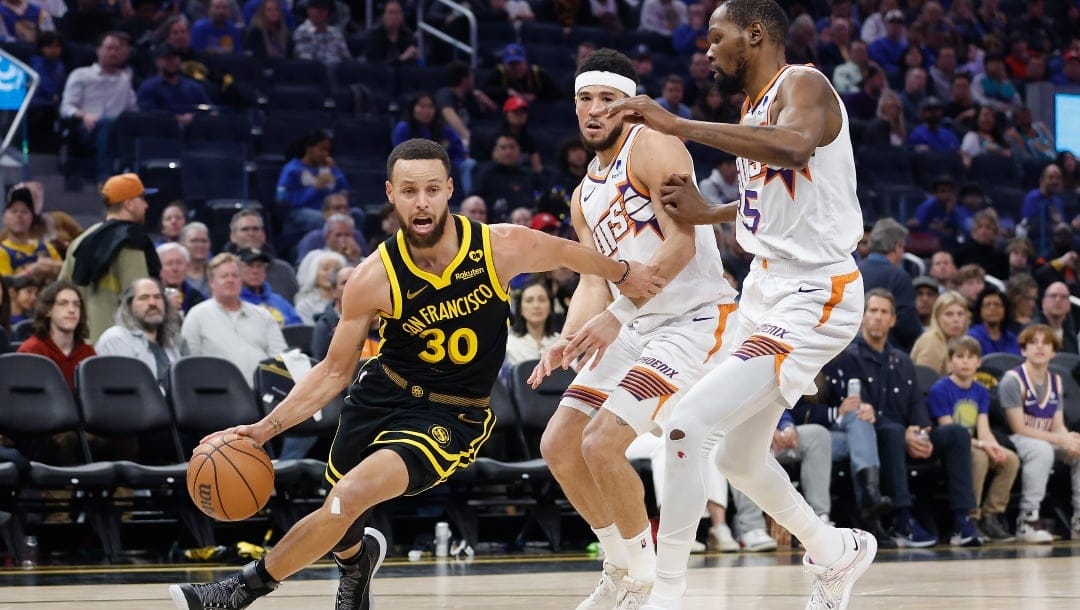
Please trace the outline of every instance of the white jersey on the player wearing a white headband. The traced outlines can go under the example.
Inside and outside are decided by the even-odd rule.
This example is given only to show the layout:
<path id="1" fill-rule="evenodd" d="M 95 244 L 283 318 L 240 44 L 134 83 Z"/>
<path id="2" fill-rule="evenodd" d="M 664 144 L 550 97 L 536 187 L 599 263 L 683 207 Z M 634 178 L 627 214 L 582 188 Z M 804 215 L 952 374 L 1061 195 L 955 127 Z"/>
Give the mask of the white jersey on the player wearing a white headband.
<path id="1" fill-rule="evenodd" d="M 602 170 L 599 159 L 593 159 L 589 174 L 581 180 L 581 211 L 596 249 L 611 258 L 639 262 L 650 260 L 664 241 L 648 189 L 629 174 L 634 140 L 645 128 L 632 126 L 611 164 Z M 693 184 L 698 184 L 697 177 L 693 178 Z M 659 201 L 657 205 L 661 205 Z M 735 290 L 724 277 L 724 263 L 713 228 L 696 227 L 694 235 L 694 257 L 659 295 L 638 310 L 638 315 L 686 313 L 704 303 L 734 300 Z M 618 294 L 615 284 L 609 283 L 609 288 L 612 295 Z"/>

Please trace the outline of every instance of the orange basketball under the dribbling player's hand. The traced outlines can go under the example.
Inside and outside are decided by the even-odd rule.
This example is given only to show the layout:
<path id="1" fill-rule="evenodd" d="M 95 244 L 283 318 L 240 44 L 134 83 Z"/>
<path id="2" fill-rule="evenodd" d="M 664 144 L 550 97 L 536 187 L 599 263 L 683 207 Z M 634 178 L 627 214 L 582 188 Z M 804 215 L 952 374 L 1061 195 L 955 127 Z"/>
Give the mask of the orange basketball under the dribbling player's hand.
<path id="1" fill-rule="evenodd" d="M 273 491 L 270 456 L 254 440 L 225 434 L 195 447 L 188 462 L 188 493 L 219 521 L 239 521 L 266 505 Z"/>

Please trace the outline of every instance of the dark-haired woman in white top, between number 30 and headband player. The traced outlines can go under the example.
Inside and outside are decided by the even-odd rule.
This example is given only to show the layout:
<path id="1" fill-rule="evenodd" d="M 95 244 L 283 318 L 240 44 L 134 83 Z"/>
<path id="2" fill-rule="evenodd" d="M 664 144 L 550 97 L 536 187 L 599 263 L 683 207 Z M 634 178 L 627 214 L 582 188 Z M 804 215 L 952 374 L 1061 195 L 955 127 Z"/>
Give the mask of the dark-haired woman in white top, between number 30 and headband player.
<path id="1" fill-rule="evenodd" d="M 529 279 L 514 295 L 507 365 L 540 360 L 540 354 L 558 338 L 554 310 L 555 295 L 543 276 Z"/>

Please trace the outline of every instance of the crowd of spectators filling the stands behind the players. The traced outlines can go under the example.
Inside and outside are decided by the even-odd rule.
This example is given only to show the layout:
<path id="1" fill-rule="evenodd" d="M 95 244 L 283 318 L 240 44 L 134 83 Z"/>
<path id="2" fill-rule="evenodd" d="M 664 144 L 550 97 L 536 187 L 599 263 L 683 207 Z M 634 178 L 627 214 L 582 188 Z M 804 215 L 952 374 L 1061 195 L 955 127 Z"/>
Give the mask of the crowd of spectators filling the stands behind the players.
<path id="1" fill-rule="evenodd" d="M 5 196 L 0 352 L 18 343 L 19 351 L 46 355 L 69 383 L 78 362 L 95 353 L 136 357 L 159 380 L 183 355 L 208 354 L 251 379 L 260 362 L 286 350 L 283 328 L 292 325 L 313 327 L 311 344 L 300 347 L 318 360 L 340 315 L 349 269 L 397 230 L 380 192 L 355 191 L 346 161 L 369 143 L 338 141 L 329 123 L 292 134 L 293 146 L 274 151 L 281 157 L 276 188 L 259 191 L 258 205 L 222 219 L 207 215 L 203 202 L 177 201 L 163 207 L 160 222 L 146 226 L 152 189 L 134 173 L 117 172 L 111 134 L 122 113 L 167 112 L 183 130 L 200 113 L 274 112 L 234 78 L 242 70 L 221 71 L 232 64 L 220 56 L 311 59 L 327 74 L 350 62 L 399 76 L 430 76 L 420 69 L 442 66 L 442 80 L 408 83 L 407 95 L 397 96 L 397 87 L 376 108 L 386 127 L 379 141 L 387 149 L 410 137 L 442 143 L 453 160 L 458 212 L 563 235 L 571 235 L 567 201 L 591 153 L 576 137 L 569 105 L 556 100 L 569 98 L 575 63 L 597 43 L 584 36 L 544 43 L 529 32 L 564 37 L 569 28 L 600 45 L 613 41 L 631 57 L 639 92 L 685 117 L 738 121 L 744 97 L 711 82 L 708 2 L 467 2 L 484 31 L 505 25 L 511 32 L 509 40 L 482 41 L 477 70 L 451 62 L 463 57 L 437 43 L 421 53 L 413 2 L 389 0 L 369 30 L 355 21 L 361 6 L 332 0 L 243 6 L 132 0 L 79 2 L 70 10 L 30 2 L 22 12 L 10 4 L 0 4 L 0 36 L 35 45 L 31 65 L 43 77 L 31 146 L 54 145 L 52 120 L 59 119 L 68 125 L 66 146 L 89 155 L 103 180 L 103 221 L 85 231 L 46 211 L 37 185 L 19 185 Z M 923 476 L 940 483 L 931 491 L 944 490 L 954 544 L 1013 536 L 1045 542 L 1039 514 L 1045 464 L 1056 456 L 1080 472 L 1080 442 L 1069 432 L 1080 421 L 1069 404 L 1077 397 L 1062 393 L 1057 377 L 1074 370 L 1047 365 L 1055 352 L 1080 357 L 1080 309 L 1072 304 L 1080 299 L 1080 171 L 1074 152 L 1059 149 L 1053 130 L 1025 104 L 1047 87 L 1080 86 L 1080 5 L 831 0 L 786 6 L 788 60 L 812 63 L 828 76 L 851 119 L 867 220 L 854 256 L 868 298 L 860 337 L 823 372 L 819 395 L 779 422 L 774 452 L 806 465 L 802 451 L 815 439 L 834 463 L 850 467 L 852 477 L 834 485 L 853 484 L 853 518 L 885 543 L 927 546 L 944 538 L 916 511 L 928 489 L 910 480 L 912 464 L 926 465 Z M 460 36 L 462 23 L 453 13 L 436 10 L 431 18 Z M 68 72 L 78 50 L 96 60 Z M 403 71 L 409 67 L 417 70 Z M 384 85 L 365 83 L 376 97 Z M 738 199 L 734 159 L 692 150 L 705 196 Z M 881 179 L 878 155 L 907 163 L 906 181 Z M 1002 172 L 1015 187 L 996 188 Z M 717 227 L 716 234 L 738 286 L 748 256 L 730 227 Z M 508 368 L 536 360 L 551 342 L 576 277 L 553 272 L 514 279 L 511 286 Z M 377 349 L 373 328 L 364 355 Z M 989 381 L 976 375 L 982 358 L 998 353 L 1024 364 Z M 937 383 L 920 389 L 916 367 L 932 371 Z M 848 383 L 856 378 L 862 391 L 850 395 Z M 980 392 L 984 384 L 989 388 Z M 1036 409 L 1045 399 L 1056 411 Z M 1001 421 L 991 417 L 998 411 Z M 804 491 L 832 518 L 829 498 L 839 491 L 822 489 L 822 476 L 816 465 L 802 472 Z M 1023 488 L 1020 514 L 1007 523 L 1007 491 L 1015 479 Z M 723 494 L 711 504 L 719 520 L 710 540 L 727 551 Z M 734 521 L 743 546 L 770 547 L 755 507 L 740 500 L 734 506 L 745 512 Z M 1080 515 L 1080 506 L 1072 509 Z M 1066 529 L 1080 536 L 1080 519 Z"/>

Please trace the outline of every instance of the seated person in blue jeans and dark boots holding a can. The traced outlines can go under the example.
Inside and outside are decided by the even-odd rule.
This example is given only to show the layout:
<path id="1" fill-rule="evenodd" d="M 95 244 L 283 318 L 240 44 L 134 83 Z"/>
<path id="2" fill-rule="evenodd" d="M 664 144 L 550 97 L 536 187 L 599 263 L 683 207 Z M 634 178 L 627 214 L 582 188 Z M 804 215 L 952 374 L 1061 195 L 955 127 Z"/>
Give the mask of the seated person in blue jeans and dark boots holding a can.
<path id="1" fill-rule="evenodd" d="M 877 415 L 864 394 L 852 395 L 848 391 L 848 375 L 851 371 L 837 367 L 838 356 L 825 365 L 816 395 L 805 396 L 795 406 L 793 416 L 797 421 L 816 423 L 829 431 L 834 462 L 851 462 L 852 484 L 855 493 L 855 514 L 860 527 L 886 546 L 896 543 L 886 534 L 879 516 L 892 511 L 892 499 L 881 494 L 881 461 L 878 457 L 877 432 L 874 422 Z"/>

